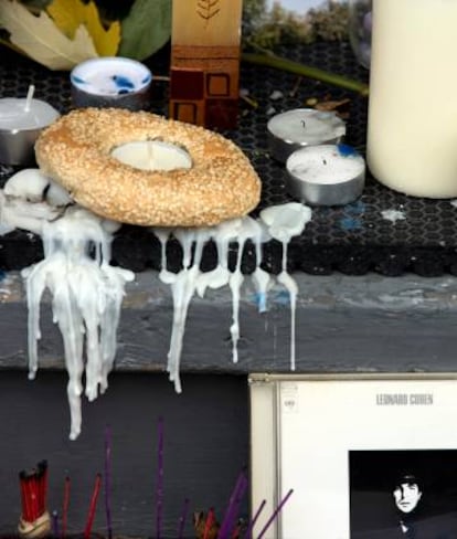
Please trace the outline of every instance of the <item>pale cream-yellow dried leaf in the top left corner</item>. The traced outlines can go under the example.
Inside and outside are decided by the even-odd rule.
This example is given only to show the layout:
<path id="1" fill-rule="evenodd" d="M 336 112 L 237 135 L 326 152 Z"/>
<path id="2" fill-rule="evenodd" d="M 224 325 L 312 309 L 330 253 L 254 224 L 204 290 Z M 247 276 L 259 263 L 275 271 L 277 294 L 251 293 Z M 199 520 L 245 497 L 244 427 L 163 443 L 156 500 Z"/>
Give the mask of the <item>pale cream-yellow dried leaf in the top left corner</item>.
<path id="1" fill-rule="evenodd" d="M 84 60 L 97 56 L 92 38 L 79 27 L 73 40 L 64 35 L 42 11 L 33 15 L 17 0 L 0 1 L 0 25 L 10 41 L 28 56 L 51 70 L 70 70 Z"/>

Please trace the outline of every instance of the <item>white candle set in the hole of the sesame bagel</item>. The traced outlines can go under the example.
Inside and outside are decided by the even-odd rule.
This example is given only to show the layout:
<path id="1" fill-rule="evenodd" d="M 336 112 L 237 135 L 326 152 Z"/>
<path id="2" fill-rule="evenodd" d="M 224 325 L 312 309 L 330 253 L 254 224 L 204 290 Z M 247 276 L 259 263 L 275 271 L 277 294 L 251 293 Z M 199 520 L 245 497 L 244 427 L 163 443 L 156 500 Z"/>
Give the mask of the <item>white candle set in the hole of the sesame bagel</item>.
<path id="1" fill-rule="evenodd" d="M 135 140 L 117 146 L 111 156 L 118 161 L 140 170 L 174 170 L 191 168 L 188 151 L 162 140 Z"/>

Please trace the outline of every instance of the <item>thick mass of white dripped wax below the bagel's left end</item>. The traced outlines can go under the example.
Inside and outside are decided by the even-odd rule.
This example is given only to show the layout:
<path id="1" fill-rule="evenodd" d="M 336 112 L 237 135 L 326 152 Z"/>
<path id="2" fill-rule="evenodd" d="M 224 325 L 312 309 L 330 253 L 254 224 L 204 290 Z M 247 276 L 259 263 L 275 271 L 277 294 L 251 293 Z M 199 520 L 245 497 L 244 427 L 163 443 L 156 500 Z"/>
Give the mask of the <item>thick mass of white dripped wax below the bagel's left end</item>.
<path id="1" fill-rule="evenodd" d="M 31 180 L 30 184 L 24 181 L 25 177 Z M 44 290 L 49 289 L 53 319 L 63 338 L 68 371 L 70 438 L 75 440 L 82 425 L 83 374 L 85 394 L 93 401 L 98 391 L 103 393 L 108 387 L 125 285 L 135 275 L 109 265 L 113 230 L 109 222 L 77 205 L 67 208 L 64 213 L 61 208 L 56 215 L 56 209 L 49 202 L 39 201 L 45 181 L 41 172 L 33 175 L 33 170 L 13 176 L 2 192 L 0 218 L 7 222 L 11 218 L 14 226 L 42 235 L 44 260 L 22 271 L 29 308 L 29 378 L 33 379 L 38 370 L 40 304 Z M 47 181 L 52 188 L 51 180 Z M 45 192 L 49 193 L 51 188 Z M 54 193 L 53 200 L 66 202 L 59 189 L 55 192 L 59 195 Z M 47 213 L 35 210 L 46 205 Z M 29 210 L 32 216 L 21 220 L 21 212 L 15 213 L 18 209 L 24 213 Z"/>

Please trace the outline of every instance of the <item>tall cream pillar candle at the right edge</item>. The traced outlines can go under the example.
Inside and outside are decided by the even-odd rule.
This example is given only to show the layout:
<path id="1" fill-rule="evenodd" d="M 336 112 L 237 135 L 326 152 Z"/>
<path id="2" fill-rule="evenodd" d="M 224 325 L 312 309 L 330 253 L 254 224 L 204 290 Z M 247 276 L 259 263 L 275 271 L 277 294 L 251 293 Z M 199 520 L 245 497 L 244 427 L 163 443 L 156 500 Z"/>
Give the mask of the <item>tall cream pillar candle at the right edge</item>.
<path id="1" fill-rule="evenodd" d="M 374 0 L 368 163 L 385 186 L 457 195 L 457 0 Z"/>

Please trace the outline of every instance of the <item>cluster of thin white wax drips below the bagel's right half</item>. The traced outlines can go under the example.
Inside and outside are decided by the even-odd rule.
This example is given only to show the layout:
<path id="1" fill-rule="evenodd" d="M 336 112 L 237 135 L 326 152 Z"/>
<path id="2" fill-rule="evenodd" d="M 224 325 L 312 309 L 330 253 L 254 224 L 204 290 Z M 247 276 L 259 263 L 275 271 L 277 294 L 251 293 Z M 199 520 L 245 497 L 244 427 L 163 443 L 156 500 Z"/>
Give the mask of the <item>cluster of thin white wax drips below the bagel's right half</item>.
<path id="1" fill-rule="evenodd" d="M 170 348 L 168 352 L 167 370 L 170 380 L 174 382 L 177 392 L 182 391 L 179 368 L 185 332 L 185 320 L 190 302 L 195 293 L 203 297 L 208 287 L 220 288 L 228 284 L 232 292 L 232 325 L 230 328 L 232 336 L 232 360 L 238 361 L 238 340 L 240 340 L 240 294 L 244 282 L 241 271 L 242 256 L 247 240 L 253 241 L 256 250 L 256 268 L 252 279 L 255 285 L 258 299 L 258 310 L 266 310 L 267 292 L 270 285 L 270 276 L 259 267 L 262 262 L 262 243 L 275 237 L 283 244 L 283 271 L 277 276 L 277 281 L 289 293 L 290 297 L 290 368 L 295 370 L 296 350 L 296 302 L 298 286 L 294 278 L 287 273 L 287 245 L 293 236 L 302 232 L 306 223 L 311 219 L 311 210 L 300 203 L 272 207 L 261 213 L 261 220 L 255 221 L 249 216 L 225 221 L 217 226 L 208 229 L 155 229 L 153 232 L 161 242 L 161 264 L 160 279 L 171 286 L 173 298 L 173 326 L 171 330 Z M 183 268 L 177 273 L 167 270 L 166 246 L 168 239 L 173 235 L 181 244 L 183 250 Z M 200 262 L 204 244 L 212 240 L 216 244 L 217 266 L 206 273 L 200 271 Z M 228 271 L 228 249 L 230 242 L 238 243 L 238 251 L 234 271 Z M 194 247 L 193 257 L 192 249 Z"/>

